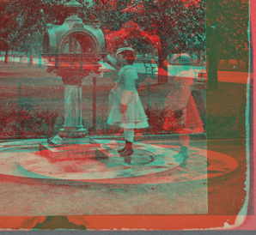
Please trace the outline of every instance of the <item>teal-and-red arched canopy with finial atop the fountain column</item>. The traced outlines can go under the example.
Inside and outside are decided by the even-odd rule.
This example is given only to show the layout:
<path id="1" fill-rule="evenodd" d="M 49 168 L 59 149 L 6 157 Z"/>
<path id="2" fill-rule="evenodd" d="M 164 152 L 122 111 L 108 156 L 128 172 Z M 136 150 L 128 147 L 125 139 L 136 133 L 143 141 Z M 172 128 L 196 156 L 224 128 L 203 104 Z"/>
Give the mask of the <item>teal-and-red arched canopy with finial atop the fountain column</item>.
<path id="1" fill-rule="evenodd" d="M 77 14 L 81 3 L 71 0 L 65 4 L 70 17 L 63 25 L 48 25 L 44 36 L 42 57 L 48 70 L 61 69 L 84 73 L 98 70 L 100 58 L 106 54 L 104 34 L 97 24 L 84 24 Z"/>

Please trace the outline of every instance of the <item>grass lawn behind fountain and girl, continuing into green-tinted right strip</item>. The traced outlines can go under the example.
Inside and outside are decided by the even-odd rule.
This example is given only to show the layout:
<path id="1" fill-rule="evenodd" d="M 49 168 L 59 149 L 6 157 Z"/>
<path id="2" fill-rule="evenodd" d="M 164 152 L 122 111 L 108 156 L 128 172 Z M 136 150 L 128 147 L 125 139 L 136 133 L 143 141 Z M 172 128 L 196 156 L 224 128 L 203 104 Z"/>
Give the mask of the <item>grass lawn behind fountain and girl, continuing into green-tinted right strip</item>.
<path id="1" fill-rule="evenodd" d="M 3 66 L 3 64 L 1 63 Z M 1 124 L 0 135 L 13 138 L 18 119 L 18 83 L 21 82 L 22 137 L 51 136 L 58 132 L 64 118 L 64 86 L 60 77 L 46 73 L 46 68 L 24 67 L 20 64 L 4 65 L 0 72 Z M 84 79 L 82 87 L 82 117 L 91 134 L 114 133 L 107 126 L 108 93 L 114 86 L 113 79 L 99 78 L 96 86 L 96 131 L 93 125 L 92 77 Z M 162 130 L 165 118 L 164 100 L 170 85 L 151 87 L 149 133 L 168 134 Z M 219 82 L 219 89 L 194 92 L 208 139 L 237 138 L 245 135 L 246 84 Z M 147 107 L 147 89 L 138 91 L 143 106 Z M 206 111 L 205 111 L 206 99 Z M 47 116 L 52 118 L 47 118 Z M 29 118 L 28 118 L 29 117 Z M 40 118 L 38 118 L 40 117 Z M 26 124 L 28 122 L 29 124 Z M 22 121 L 21 121 L 22 122 Z M 34 129 L 33 122 L 37 125 Z M 207 126 L 206 126 L 207 122 Z M 109 132 L 110 131 L 110 132 Z M 146 132 L 147 130 L 142 130 Z"/>

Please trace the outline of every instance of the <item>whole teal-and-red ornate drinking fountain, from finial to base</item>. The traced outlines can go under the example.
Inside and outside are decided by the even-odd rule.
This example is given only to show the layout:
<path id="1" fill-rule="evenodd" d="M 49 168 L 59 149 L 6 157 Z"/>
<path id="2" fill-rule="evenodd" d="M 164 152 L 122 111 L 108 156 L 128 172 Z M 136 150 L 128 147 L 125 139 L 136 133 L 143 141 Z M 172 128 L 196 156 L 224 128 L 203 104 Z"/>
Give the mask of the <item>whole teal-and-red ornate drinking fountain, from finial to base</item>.
<path id="1" fill-rule="evenodd" d="M 86 23 L 78 16 L 81 3 L 64 3 L 70 13 L 62 25 L 48 24 L 43 39 L 42 57 L 47 72 L 54 72 L 64 83 L 64 125 L 57 136 L 40 144 L 46 156 L 58 159 L 90 157 L 98 144 L 91 143 L 88 131 L 82 126 L 82 80 L 90 73 L 99 74 L 102 56 L 107 53 L 106 40 L 99 24 Z M 71 151 L 70 146 L 76 146 Z M 75 149 L 76 149 L 75 148 Z M 41 153 L 42 154 L 42 153 Z M 61 156 L 60 156 L 61 155 Z"/>

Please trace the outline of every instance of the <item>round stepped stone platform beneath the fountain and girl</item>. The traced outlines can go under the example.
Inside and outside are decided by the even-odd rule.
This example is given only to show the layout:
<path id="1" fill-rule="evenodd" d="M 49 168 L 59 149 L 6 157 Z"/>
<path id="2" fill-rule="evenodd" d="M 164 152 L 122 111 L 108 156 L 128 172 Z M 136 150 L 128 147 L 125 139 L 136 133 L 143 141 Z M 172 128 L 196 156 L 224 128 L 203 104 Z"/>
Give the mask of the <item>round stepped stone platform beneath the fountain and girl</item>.
<path id="1" fill-rule="evenodd" d="M 59 160 L 52 162 L 29 140 L 1 143 L 0 174 L 62 181 L 62 184 L 167 184 L 211 178 L 232 172 L 238 166 L 225 154 L 189 148 L 190 158 L 174 159 L 179 147 L 135 143 L 134 154 L 120 157 L 120 142 L 97 141 L 107 149 L 108 159 Z M 76 146 L 72 153 L 76 154 Z M 79 153 L 81 154 L 81 153 Z"/>

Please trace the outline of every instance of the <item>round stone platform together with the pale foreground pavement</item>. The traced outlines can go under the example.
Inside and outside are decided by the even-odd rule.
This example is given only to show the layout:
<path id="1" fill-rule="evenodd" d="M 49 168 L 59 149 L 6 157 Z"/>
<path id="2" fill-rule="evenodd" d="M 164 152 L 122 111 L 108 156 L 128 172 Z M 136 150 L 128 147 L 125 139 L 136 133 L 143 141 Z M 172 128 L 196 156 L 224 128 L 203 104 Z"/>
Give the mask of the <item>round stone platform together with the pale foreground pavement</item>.
<path id="1" fill-rule="evenodd" d="M 207 214 L 208 178 L 238 166 L 205 142 L 192 144 L 185 164 L 173 157 L 177 146 L 136 142 L 129 162 L 116 153 L 123 142 L 95 141 L 108 159 L 51 162 L 39 152 L 46 140 L 2 142 L 0 216 Z"/>

